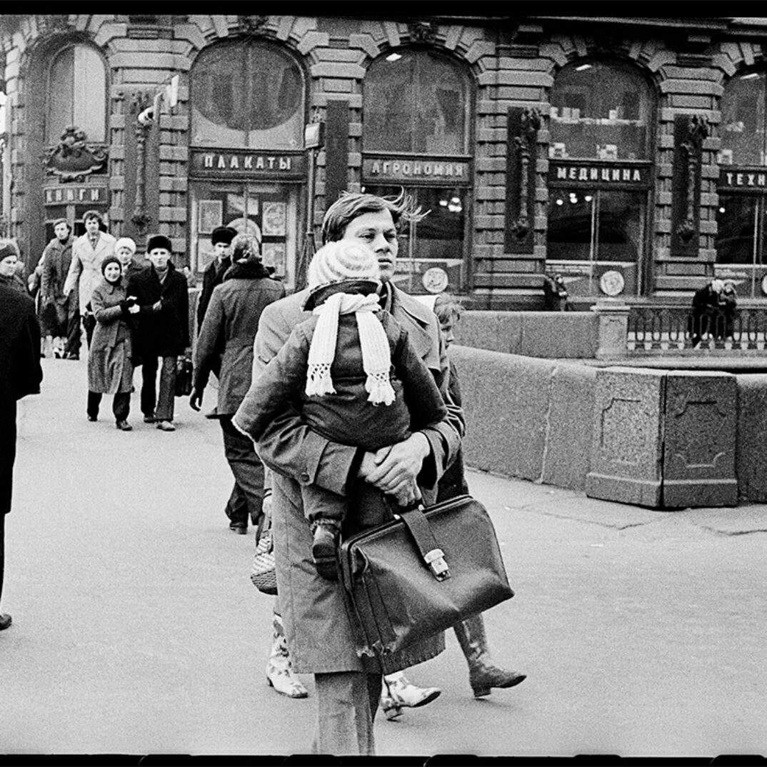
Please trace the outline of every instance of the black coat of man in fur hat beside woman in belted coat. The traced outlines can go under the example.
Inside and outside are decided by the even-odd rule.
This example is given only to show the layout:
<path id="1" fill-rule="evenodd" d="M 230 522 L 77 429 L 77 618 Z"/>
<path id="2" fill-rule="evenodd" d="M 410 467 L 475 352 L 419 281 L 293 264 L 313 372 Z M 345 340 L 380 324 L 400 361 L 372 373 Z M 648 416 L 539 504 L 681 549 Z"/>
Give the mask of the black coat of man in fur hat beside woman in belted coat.
<path id="1" fill-rule="evenodd" d="M 127 295 L 137 298 L 140 311 L 133 335 L 134 364 L 146 357 L 176 357 L 189 347 L 189 286 L 173 264 L 160 280 L 148 265 L 128 281 Z M 160 311 L 155 310 L 161 301 Z"/>

